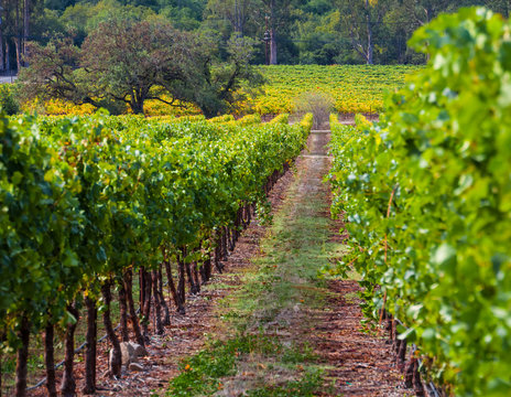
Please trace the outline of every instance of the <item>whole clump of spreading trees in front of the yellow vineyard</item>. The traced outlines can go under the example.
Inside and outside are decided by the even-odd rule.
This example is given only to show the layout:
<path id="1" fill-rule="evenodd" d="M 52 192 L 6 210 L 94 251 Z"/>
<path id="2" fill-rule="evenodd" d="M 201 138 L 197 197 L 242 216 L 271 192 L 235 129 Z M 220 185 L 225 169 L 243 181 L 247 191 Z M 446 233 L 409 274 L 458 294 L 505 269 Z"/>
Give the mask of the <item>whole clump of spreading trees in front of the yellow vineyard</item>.
<path id="1" fill-rule="evenodd" d="M 238 37 L 228 45 L 229 63 L 215 56 L 215 45 L 181 32 L 161 18 L 101 23 L 81 49 L 73 40 L 32 43 L 30 67 L 20 75 L 24 99 L 63 98 L 75 104 L 143 114 L 148 99 L 171 106 L 192 101 L 208 117 L 239 98 L 241 79 L 260 82 L 250 66 L 253 45 Z"/>

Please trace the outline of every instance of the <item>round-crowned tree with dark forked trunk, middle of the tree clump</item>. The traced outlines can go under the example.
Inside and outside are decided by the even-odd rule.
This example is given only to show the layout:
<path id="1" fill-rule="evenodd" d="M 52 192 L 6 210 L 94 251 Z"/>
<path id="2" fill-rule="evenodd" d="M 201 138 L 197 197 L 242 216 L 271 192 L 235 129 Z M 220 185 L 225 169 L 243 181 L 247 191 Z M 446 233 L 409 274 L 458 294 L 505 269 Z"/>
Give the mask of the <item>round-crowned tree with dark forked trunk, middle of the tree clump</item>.
<path id="1" fill-rule="evenodd" d="M 94 95 L 126 103 L 134 114 L 143 114 L 148 99 L 174 105 L 165 98 L 174 81 L 187 78 L 191 40 L 164 20 L 126 23 L 111 20 L 99 25 L 84 42 L 81 66 Z"/>

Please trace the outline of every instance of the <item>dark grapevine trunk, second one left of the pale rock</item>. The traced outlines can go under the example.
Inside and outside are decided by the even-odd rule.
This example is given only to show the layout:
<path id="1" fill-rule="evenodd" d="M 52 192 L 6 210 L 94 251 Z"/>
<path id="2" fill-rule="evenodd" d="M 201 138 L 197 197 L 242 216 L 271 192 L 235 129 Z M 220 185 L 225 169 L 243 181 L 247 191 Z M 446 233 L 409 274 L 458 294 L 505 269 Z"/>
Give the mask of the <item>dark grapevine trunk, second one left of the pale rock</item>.
<path id="1" fill-rule="evenodd" d="M 85 305 L 87 308 L 87 333 L 85 341 L 87 346 L 85 350 L 85 386 L 83 393 L 91 395 L 96 393 L 96 344 L 97 344 L 97 319 L 98 310 L 96 302 L 89 297 L 85 298 Z"/>

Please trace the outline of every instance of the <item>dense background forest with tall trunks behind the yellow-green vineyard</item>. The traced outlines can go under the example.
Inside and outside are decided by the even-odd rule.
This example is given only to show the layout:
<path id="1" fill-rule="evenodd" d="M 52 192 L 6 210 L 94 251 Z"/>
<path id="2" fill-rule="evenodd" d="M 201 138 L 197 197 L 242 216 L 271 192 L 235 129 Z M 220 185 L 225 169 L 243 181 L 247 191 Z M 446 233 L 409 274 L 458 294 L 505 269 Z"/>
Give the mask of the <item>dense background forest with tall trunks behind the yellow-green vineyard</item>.
<path id="1" fill-rule="evenodd" d="M 256 41 L 256 64 L 421 64 L 412 33 L 441 12 L 486 6 L 509 17 L 510 0 L 1 0 L 0 73 L 24 65 L 26 43 L 73 35 L 80 45 L 112 15 L 165 20 L 218 44 Z"/>

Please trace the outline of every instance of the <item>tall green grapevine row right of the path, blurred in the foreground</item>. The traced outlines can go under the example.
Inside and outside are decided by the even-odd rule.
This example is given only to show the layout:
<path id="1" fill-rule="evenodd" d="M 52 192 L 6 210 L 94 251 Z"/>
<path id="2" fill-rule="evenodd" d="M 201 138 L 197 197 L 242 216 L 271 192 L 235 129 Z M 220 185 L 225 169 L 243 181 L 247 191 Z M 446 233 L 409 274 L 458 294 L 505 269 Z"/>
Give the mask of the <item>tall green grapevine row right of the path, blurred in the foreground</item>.
<path id="1" fill-rule="evenodd" d="M 438 18 L 411 43 L 428 67 L 380 122 L 330 122 L 337 271 L 357 269 L 366 313 L 446 395 L 511 394 L 510 31 L 485 9 Z"/>

